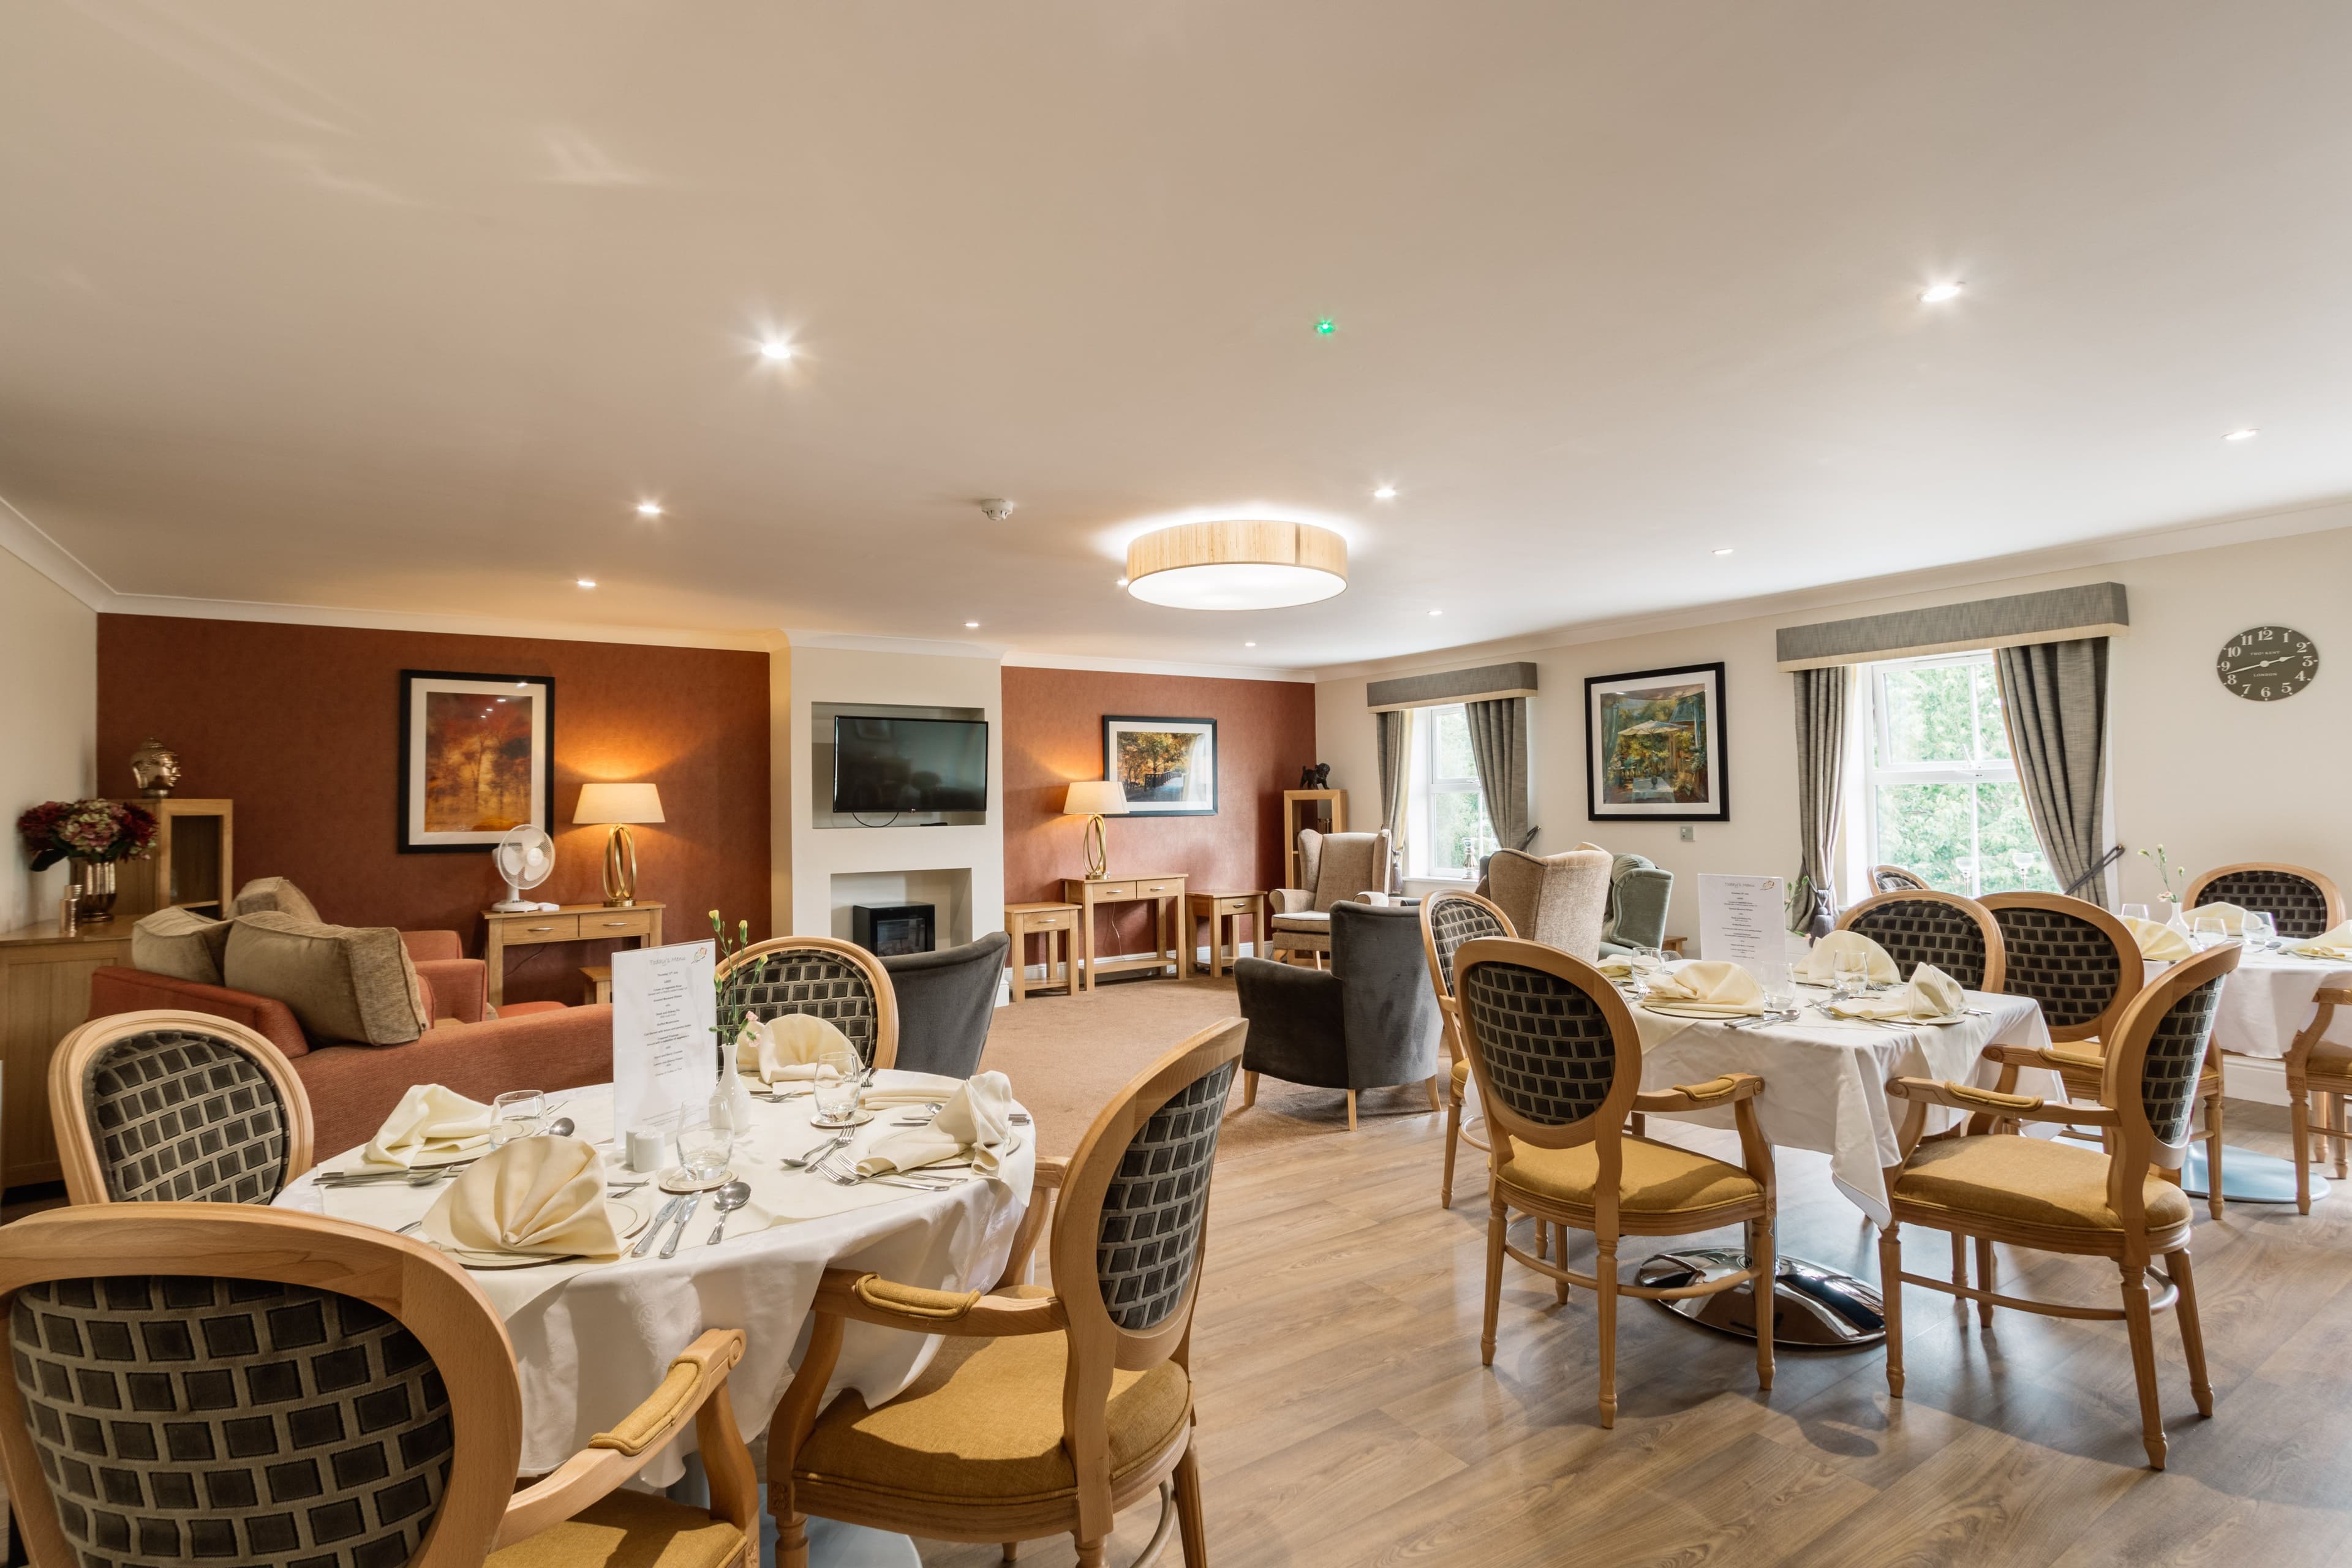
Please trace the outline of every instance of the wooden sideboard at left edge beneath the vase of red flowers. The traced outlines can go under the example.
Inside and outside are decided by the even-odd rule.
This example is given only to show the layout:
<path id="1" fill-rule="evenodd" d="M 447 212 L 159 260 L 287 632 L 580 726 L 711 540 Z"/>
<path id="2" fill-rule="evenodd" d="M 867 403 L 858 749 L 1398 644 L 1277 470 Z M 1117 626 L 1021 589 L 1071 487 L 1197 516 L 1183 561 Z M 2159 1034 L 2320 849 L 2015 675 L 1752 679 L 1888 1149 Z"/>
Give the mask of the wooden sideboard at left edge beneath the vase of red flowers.
<path id="1" fill-rule="evenodd" d="M 49 1133 L 49 1053 L 89 1020 L 89 976 L 132 961 L 132 922 L 0 936 L 0 1185 L 64 1180 Z"/>

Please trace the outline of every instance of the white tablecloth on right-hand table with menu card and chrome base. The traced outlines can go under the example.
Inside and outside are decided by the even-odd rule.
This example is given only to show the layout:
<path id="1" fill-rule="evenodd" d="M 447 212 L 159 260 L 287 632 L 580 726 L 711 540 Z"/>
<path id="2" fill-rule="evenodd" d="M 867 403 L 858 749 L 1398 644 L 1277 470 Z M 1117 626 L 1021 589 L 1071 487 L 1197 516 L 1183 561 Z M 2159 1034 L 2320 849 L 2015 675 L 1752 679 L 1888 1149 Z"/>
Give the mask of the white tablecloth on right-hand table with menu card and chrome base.
<path id="1" fill-rule="evenodd" d="M 1983 1060 L 1992 1046 L 2046 1046 L 2049 1025 L 2032 997 L 1969 992 L 1980 1009 L 1947 1025 L 1889 1030 L 1875 1023 L 1828 1018 L 1816 1001 L 1828 992 L 1799 987 L 1806 1013 L 1797 1023 L 1733 1030 L 1729 1020 L 1670 1018 L 1632 1004 L 1642 1030 L 1642 1088 L 1703 1084 L 1724 1072 L 1764 1079 L 1755 1098 L 1757 1131 L 1766 1143 L 1816 1150 L 1830 1157 L 1830 1175 L 1863 1213 L 1884 1225 L 1886 1166 L 1896 1164 L 1900 1114 L 1886 1095 L 1886 1079 L 1952 1079 L 1992 1086 L 1999 1067 Z M 2063 1098 L 2056 1072 L 2027 1067 L 2018 1093 Z M 1907 1107 L 1905 1107 L 1907 1110 Z M 1686 1112 L 1677 1119 L 1731 1126 L 1729 1107 Z M 1926 1131 L 1962 1121 L 1964 1114 L 1931 1105 Z"/>

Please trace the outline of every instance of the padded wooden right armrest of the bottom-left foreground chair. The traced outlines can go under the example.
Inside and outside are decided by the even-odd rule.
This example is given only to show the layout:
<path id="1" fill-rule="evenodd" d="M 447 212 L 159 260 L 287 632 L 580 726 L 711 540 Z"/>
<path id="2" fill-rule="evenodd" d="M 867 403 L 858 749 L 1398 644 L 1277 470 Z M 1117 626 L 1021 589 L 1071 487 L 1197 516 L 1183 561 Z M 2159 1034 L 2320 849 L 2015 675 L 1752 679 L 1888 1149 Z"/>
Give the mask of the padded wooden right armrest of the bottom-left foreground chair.
<path id="1" fill-rule="evenodd" d="M 753 1535 L 757 1530 L 757 1476 L 750 1467 L 750 1448 L 743 1446 L 743 1434 L 736 1429 L 727 1401 L 727 1373 L 741 1359 L 741 1328 L 713 1328 L 687 1345 L 670 1361 L 661 1387 L 619 1427 L 597 1432 L 555 1472 L 508 1500 L 496 1547 L 529 1540 L 619 1490 L 684 1429 L 687 1420 L 694 1420 L 703 1469 L 710 1476 L 713 1516 Z"/>

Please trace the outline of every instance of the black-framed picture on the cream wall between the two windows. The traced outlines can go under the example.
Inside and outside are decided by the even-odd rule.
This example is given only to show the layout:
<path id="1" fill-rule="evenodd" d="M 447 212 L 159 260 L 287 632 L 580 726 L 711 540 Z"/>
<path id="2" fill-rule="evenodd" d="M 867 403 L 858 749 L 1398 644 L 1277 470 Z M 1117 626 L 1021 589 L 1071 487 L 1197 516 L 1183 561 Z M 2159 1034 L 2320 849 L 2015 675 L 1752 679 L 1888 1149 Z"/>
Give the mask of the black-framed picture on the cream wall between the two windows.
<path id="1" fill-rule="evenodd" d="M 1724 668 L 1585 677 L 1585 816 L 1729 823 Z"/>

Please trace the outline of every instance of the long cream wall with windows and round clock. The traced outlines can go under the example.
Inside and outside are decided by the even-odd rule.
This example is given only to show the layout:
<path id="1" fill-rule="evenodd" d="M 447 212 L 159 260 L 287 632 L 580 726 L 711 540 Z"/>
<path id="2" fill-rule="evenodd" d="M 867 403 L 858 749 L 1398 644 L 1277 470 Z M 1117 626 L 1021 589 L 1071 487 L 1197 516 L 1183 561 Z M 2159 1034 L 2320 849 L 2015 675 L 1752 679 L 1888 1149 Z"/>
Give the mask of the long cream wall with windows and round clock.
<path id="1" fill-rule="evenodd" d="M 1642 853 L 1675 872 L 1668 931 L 1696 936 L 1698 872 L 1792 877 L 1797 870 L 1797 741 L 1790 677 L 1773 668 L 1783 625 L 1842 621 L 1922 604 L 1985 599 L 2070 583 L 2124 583 L 2131 635 L 2110 663 L 2110 835 L 2126 846 L 2126 900 L 2157 898 L 2138 851 L 2164 844 L 2192 870 L 2288 860 L 2352 884 L 2352 529 L 2237 543 L 2136 562 L 2009 578 L 1785 616 L 1757 616 L 1642 637 L 1510 654 L 1534 658 L 1529 701 L 1538 853 L 1581 839 Z M 2213 679 L 2220 644 L 2249 625 L 2296 625 L 2319 642 L 2319 679 L 2284 703 L 2249 703 Z M 1592 823 L 1585 818 L 1583 682 L 1588 675 L 1724 661 L 1731 820 Z M 1381 670 L 1414 675 L 1494 663 L 1494 656 Z M 1378 811 L 1381 773 L 1364 679 L 1315 691 L 1315 731 L 1331 780 L 1355 813 Z M 1853 825 L 1849 823 L 1849 832 Z"/>

